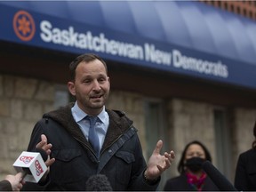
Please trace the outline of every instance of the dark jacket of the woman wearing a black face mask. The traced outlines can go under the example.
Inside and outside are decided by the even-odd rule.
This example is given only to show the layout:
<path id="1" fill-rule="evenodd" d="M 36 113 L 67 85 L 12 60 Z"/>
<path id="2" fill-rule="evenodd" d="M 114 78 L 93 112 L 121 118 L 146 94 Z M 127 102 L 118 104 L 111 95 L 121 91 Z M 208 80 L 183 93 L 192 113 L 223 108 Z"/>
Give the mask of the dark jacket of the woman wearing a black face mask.
<path id="1" fill-rule="evenodd" d="M 204 180 L 204 186 L 202 191 L 219 191 L 220 189 L 213 183 L 213 181 L 206 177 Z M 172 178 L 167 180 L 164 185 L 164 191 L 195 191 L 187 181 L 187 176 L 185 173 L 182 173 L 179 177 Z"/>

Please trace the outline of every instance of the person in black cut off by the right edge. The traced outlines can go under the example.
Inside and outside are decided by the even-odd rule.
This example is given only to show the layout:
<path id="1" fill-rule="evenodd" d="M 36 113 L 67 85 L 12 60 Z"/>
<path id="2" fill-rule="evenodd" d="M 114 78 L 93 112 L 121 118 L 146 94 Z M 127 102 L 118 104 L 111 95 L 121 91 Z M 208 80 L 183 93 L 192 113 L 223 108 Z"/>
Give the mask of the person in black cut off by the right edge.
<path id="1" fill-rule="evenodd" d="M 256 121 L 253 127 L 252 148 L 239 155 L 236 164 L 235 188 L 256 191 Z"/>

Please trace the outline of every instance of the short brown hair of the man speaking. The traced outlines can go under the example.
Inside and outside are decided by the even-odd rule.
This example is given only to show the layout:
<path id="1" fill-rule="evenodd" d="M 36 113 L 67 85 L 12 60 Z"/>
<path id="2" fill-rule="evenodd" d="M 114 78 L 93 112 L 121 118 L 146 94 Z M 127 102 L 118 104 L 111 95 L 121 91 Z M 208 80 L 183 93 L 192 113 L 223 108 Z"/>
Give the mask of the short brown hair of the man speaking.
<path id="1" fill-rule="evenodd" d="M 76 57 L 75 60 L 73 60 L 70 64 L 69 64 L 69 72 L 70 72 L 70 78 L 72 81 L 74 81 L 76 79 L 76 68 L 78 66 L 78 64 L 82 61 L 84 62 L 91 62 L 92 60 L 100 60 L 104 67 L 106 68 L 106 72 L 108 74 L 108 68 L 107 68 L 107 64 L 104 60 L 102 60 L 100 58 L 100 56 L 93 54 L 93 53 L 84 53 L 82 55 L 79 55 L 78 57 Z"/>

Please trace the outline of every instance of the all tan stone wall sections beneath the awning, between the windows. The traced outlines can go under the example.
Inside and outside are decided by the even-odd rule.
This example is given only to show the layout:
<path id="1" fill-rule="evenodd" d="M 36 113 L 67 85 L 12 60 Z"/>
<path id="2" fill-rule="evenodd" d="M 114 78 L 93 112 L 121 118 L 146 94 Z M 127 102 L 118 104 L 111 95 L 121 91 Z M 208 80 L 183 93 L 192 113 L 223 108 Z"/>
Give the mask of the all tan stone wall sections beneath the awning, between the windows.
<path id="1" fill-rule="evenodd" d="M 6 174 L 15 173 L 12 164 L 21 151 L 28 147 L 28 140 L 38 119 L 54 109 L 56 84 L 19 76 L 0 75 L 0 180 Z M 191 140 L 201 140 L 216 161 L 215 136 L 212 119 L 214 106 L 192 100 L 170 99 L 166 106 L 166 133 L 168 145 L 176 153 L 176 159 L 166 177 L 177 175 L 177 164 L 182 149 Z M 123 110 L 139 130 L 141 146 L 148 149 L 145 140 L 144 97 L 134 92 L 111 91 L 107 108 Z M 252 126 L 256 109 L 232 109 L 232 159 L 235 171 L 238 155 L 251 148 Z M 145 154 L 144 154 L 145 155 Z M 148 156 L 145 155 L 146 160 Z M 167 178 L 165 178 L 166 180 Z M 163 181 L 164 182 L 164 181 Z"/>

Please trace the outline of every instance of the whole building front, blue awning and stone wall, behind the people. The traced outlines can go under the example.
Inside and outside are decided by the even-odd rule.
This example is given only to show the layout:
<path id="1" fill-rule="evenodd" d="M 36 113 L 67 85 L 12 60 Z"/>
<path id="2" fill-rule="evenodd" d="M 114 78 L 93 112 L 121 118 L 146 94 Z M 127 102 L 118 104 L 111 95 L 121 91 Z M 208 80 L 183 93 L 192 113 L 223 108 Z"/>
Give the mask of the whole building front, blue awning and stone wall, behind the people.
<path id="1" fill-rule="evenodd" d="M 102 18 L 92 20 L 91 15 L 96 11 L 90 12 L 89 8 L 93 6 L 96 9 L 99 4 L 104 21 Z M 178 174 L 181 151 L 191 140 L 204 142 L 211 151 L 213 164 L 233 182 L 237 157 L 251 148 L 254 140 L 252 126 L 256 120 L 256 64 L 252 60 L 256 54 L 252 54 L 252 49 L 248 56 L 242 50 L 243 47 L 239 49 L 239 39 L 228 45 L 226 31 L 220 31 L 224 35 L 217 36 L 216 26 L 209 27 L 215 31 L 207 30 L 214 32 L 214 36 L 204 36 L 204 28 L 201 28 L 204 25 L 196 22 L 197 18 L 188 20 L 188 13 L 195 15 L 196 12 L 197 15 L 199 11 L 200 14 L 207 11 L 209 14 L 206 15 L 206 12 L 205 18 L 209 17 L 209 20 L 214 19 L 210 18 L 210 13 L 218 17 L 224 15 L 227 20 L 235 21 L 238 20 L 237 16 L 230 13 L 226 15 L 199 2 L 130 2 L 129 7 L 135 18 L 131 21 L 126 19 L 131 16 L 131 12 L 122 10 L 124 5 L 84 3 L 85 11 L 90 12 L 87 19 L 79 9 L 77 12 L 68 12 L 67 7 L 75 6 L 69 3 L 63 4 L 64 8 L 59 9 L 60 12 L 53 12 L 54 6 L 52 4 L 53 8 L 49 7 L 49 3 L 0 4 L 3 18 L 0 23 L 4 26 L 4 35 L 0 35 L 2 177 L 14 172 L 12 164 L 21 151 L 28 147 L 36 121 L 45 112 L 70 101 L 67 89 L 68 64 L 78 54 L 95 52 L 108 64 L 111 92 L 107 107 L 123 110 L 132 118 L 139 130 L 145 158 L 148 159 L 156 141 L 160 139 L 164 140 L 163 151 L 173 149 L 176 153 L 176 160 L 170 171 L 164 172 L 159 189 L 163 188 L 165 180 Z M 150 15 L 147 11 L 141 13 L 137 10 L 145 5 L 152 11 Z M 113 13 L 113 9 L 118 10 L 117 6 L 122 7 L 120 10 L 125 17 L 122 16 L 122 20 L 108 18 L 110 11 Z M 166 12 L 172 10 L 178 16 L 173 18 L 167 12 L 166 17 L 169 18 L 165 19 L 158 12 L 156 18 L 161 20 L 156 19 L 153 10 L 161 8 L 161 12 L 162 9 L 164 12 L 164 7 Z M 65 13 L 70 14 L 69 20 L 61 16 Z M 114 13 L 121 14 L 117 11 Z M 71 16 L 75 18 L 75 14 L 79 17 L 73 20 Z M 179 14 L 186 22 L 187 31 L 182 31 Z M 149 24 L 141 21 L 143 17 Z M 29 18 L 33 18 L 34 22 L 30 22 L 29 28 L 21 28 L 20 33 L 14 20 L 20 20 L 26 27 L 26 19 Z M 169 31 L 168 25 L 171 24 L 165 23 L 163 32 L 159 23 L 164 20 L 172 25 L 175 25 L 175 20 L 179 20 L 177 26 L 172 28 L 180 30 L 176 34 L 171 31 L 173 34 L 167 36 L 166 30 Z M 148 21 L 155 21 L 156 33 L 150 30 Z M 253 28 L 256 26 L 248 20 L 244 22 Z M 36 29 L 34 35 L 26 32 L 33 28 Z M 134 31 L 137 33 L 132 36 Z M 248 34 L 252 32 L 248 31 Z M 22 36 L 22 33 L 25 35 Z M 189 33 L 190 36 L 186 36 Z M 73 40 L 68 39 L 71 35 Z M 231 35 L 236 36 L 235 33 Z M 167 43 L 161 41 L 162 38 L 166 38 Z M 241 38 L 246 43 L 250 36 Z M 93 39 L 91 44 L 89 39 Z M 253 42 L 248 46 L 256 47 Z M 220 50 L 222 47 L 223 50 Z"/>

